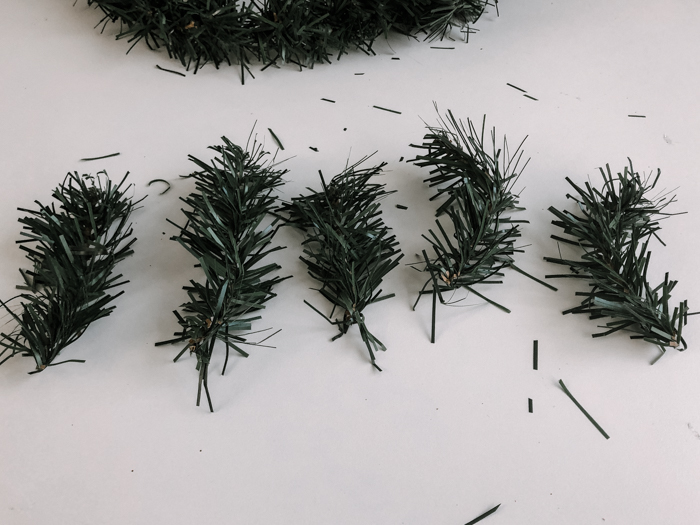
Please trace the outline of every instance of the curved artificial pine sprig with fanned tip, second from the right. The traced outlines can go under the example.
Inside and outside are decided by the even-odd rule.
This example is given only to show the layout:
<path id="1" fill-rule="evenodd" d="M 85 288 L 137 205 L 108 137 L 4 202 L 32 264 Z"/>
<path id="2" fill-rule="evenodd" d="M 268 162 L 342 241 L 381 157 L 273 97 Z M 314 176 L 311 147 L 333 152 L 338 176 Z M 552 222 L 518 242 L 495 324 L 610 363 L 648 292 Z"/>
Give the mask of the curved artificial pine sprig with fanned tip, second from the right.
<path id="1" fill-rule="evenodd" d="M 430 243 L 432 254 L 423 250 L 422 271 L 430 277 L 418 294 L 415 306 L 425 294 L 432 294 L 431 342 L 435 342 L 435 315 L 437 300 L 441 304 L 454 304 L 444 294 L 465 288 L 488 303 L 510 312 L 506 307 L 488 299 L 474 289 L 477 284 L 499 284 L 501 270 L 512 268 L 535 279 L 514 264 L 513 255 L 519 250 L 515 240 L 520 237 L 519 223 L 510 212 L 523 210 L 518 207 L 518 195 L 513 185 L 518 180 L 525 162 L 522 142 L 511 154 L 507 140 L 503 147 L 496 143 L 496 131 L 491 132 L 491 153 L 486 151 L 484 133 L 486 118 L 478 132 L 471 120 L 466 126 L 448 110 L 445 118 L 439 118 L 437 126 L 428 126 L 423 143 L 412 147 L 423 150 L 412 160 L 416 165 L 430 169 L 425 180 L 430 187 L 437 187 L 431 200 L 445 198 L 437 210 L 437 216 L 447 215 L 448 230 L 439 219 L 435 220 L 439 234 L 428 230 L 423 238 Z M 523 140 L 524 142 L 524 140 Z"/>

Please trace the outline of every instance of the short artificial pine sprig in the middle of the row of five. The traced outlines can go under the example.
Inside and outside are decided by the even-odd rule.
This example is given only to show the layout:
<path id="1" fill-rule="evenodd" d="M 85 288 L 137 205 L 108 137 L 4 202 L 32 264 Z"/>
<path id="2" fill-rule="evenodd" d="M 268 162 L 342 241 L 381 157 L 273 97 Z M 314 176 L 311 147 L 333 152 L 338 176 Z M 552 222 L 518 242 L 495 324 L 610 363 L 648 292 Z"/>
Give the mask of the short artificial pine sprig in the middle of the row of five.
<path id="1" fill-rule="evenodd" d="M 386 347 L 367 328 L 364 310 L 394 296 L 382 295 L 379 286 L 403 255 L 381 217 L 379 200 L 393 192 L 386 191 L 384 184 L 370 182 L 386 163 L 358 169 L 366 159 L 347 167 L 329 183 L 319 171 L 322 191 L 308 188 L 310 194 L 292 199 L 281 211 L 288 214 L 289 224 L 305 232 L 300 258 L 309 275 L 321 283 L 318 291 L 333 309 L 326 316 L 304 302 L 338 328 L 340 333 L 333 341 L 356 324 L 372 365 L 381 371 L 376 352 Z M 339 318 L 334 318 L 336 310 Z"/>

